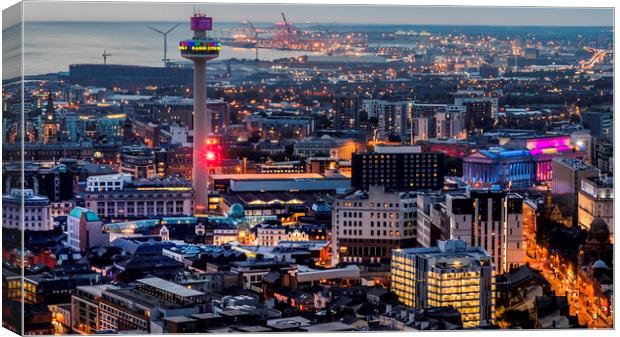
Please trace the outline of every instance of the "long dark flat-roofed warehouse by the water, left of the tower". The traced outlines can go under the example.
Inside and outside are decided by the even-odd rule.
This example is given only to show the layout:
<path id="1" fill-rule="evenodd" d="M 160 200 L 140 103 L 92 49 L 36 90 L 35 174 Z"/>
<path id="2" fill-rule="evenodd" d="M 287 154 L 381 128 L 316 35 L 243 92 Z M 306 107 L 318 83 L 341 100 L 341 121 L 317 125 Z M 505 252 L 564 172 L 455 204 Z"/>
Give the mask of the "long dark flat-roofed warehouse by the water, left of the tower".
<path id="1" fill-rule="evenodd" d="M 188 86 L 193 69 L 185 67 L 145 67 L 120 64 L 72 64 L 69 82 L 80 85 L 143 88 L 147 86 Z"/>

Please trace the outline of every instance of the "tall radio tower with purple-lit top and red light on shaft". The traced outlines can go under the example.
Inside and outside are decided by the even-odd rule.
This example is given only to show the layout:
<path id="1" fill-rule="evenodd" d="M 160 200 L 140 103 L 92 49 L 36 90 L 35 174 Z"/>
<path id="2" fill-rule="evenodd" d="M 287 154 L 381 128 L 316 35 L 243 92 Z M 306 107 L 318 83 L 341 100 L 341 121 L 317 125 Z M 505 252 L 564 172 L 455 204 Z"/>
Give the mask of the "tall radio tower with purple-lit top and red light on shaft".
<path id="1" fill-rule="evenodd" d="M 207 61 L 219 56 L 220 43 L 207 38 L 207 31 L 213 29 L 213 19 L 195 13 L 190 21 L 194 37 L 179 42 L 181 56 L 194 62 L 194 144 L 192 162 L 192 184 L 194 187 L 194 210 L 206 213 L 209 171 L 208 164 L 215 160 L 211 145 L 211 116 L 207 114 Z"/>

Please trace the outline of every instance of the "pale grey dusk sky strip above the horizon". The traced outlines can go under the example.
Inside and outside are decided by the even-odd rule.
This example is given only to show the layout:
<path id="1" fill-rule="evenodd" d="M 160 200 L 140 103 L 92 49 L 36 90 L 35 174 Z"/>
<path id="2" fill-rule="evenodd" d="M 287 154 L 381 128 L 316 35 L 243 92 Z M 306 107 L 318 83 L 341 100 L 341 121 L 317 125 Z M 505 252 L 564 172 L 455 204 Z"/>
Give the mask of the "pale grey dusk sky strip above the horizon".
<path id="1" fill-rule="evenodd" d="M 380 2 L 380 1 L 377 1 Z M 214 20 L 339 24 L 612 26 L 610 8 L 421 7 L 302 4 L 25 2 L 26 21 L 187 21 L 196 6 Z"/>

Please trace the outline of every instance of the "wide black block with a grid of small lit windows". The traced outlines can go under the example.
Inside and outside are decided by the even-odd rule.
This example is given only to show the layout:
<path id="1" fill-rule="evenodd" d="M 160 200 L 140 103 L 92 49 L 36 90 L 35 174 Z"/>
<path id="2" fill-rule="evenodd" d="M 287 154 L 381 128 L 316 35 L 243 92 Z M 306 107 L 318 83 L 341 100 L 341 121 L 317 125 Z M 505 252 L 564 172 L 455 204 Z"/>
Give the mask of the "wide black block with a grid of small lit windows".
<path id="1" fill-rule="evenodd" d="M 412 148 L 385 152 L 377 146 L 375 152 L 353 154 L 351 186 L 367 190 L 370 185 L 383 185 L 393 191 L 443 188 L 443 154 Z"/>

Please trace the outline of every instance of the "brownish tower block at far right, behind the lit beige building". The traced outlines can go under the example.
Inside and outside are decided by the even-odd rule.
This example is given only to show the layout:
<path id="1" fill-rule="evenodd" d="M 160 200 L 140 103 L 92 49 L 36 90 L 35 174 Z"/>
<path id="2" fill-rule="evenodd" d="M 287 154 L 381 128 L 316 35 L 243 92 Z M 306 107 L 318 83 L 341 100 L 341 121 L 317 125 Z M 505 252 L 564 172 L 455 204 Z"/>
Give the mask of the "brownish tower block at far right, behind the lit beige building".
<path id="1" fill-rule="evenodd" d="M 564 210 L 565 215 L 572 216 L 572 224 L 576 226 L 578 210 L 578 194 L 581 180 L 587 177 L 598 177 L 596 167 L 579 159 L 559 157 L 552 162 L 551 193 L 553 202 Z"/>

